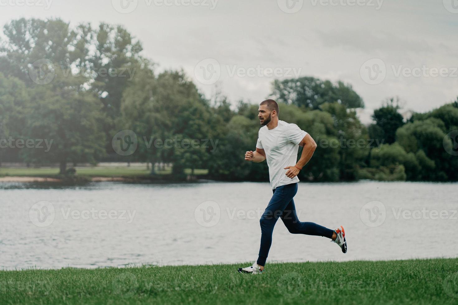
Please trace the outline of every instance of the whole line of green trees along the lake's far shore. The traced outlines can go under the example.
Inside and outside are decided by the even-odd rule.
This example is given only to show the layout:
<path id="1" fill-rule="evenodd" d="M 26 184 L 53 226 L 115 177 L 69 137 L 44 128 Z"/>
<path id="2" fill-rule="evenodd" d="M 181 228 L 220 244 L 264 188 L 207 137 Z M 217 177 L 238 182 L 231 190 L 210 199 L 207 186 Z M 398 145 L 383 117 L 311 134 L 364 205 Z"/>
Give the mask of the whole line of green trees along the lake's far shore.
<path id="1" fill-rule="evenodd" d="M 268 180 L 265 162 L 244 161 L 261 127 L 258 103 L 234 107 L 221 94 L 206 98 L 182 70 L 159 73 L 124 27 L 22 18 L 3 33 L 0 165 L 59 163 L 65 174 L 67 163 L 162 162 L 176 177 L 191 168 L 218 180 Z M 364 102 L 344 82 L 275 80 L 269 97 L 280 120 L 318 144 L 301 180 L 458 180 L 458 100 L 408 121 L 387 100 L 365 126 L 354 111 Z M 133 144 L 131 135 L 115 139 L 125 130 L 135 135 L 131 154 L 114 147 Z M 40 148 L 40 139 L 52 143 Z"/>

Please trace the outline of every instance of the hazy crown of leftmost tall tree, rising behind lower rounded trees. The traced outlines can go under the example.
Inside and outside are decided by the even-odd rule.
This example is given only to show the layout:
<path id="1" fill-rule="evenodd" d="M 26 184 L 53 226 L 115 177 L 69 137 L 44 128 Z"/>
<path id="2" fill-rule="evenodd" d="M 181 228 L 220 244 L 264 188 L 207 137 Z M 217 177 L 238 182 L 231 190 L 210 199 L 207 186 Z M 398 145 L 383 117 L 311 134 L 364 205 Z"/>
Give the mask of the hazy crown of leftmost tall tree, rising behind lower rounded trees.
<path id="1" fill-rule="evenodd" d="M 37 60 L 49 60 L 55 70 L 71 74 L 71 69 L 87 66 L 91 28 L 81 24 L 71 29 L 61 19 L 12 20 L 3 28 L 5 39 L 0 47 L 2 71 L 27 84 L 36 85 L 30 75 Z M 5 67 L 5 70 L 3 68 Z"/>

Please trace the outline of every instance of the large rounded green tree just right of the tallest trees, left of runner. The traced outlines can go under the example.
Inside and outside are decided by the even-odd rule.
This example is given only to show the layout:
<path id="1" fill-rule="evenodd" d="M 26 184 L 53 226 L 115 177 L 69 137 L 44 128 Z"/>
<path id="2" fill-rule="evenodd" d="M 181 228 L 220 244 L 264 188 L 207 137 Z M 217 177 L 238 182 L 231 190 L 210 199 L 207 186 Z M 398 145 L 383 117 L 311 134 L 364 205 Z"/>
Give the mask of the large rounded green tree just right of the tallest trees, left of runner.
<path id="1" fill-rule="evenodd" d="M 202 147 L 202 139 L 208 138 L 212 128 L 207 123 L 210 106 L 183 71 L 165 71 L 155 77 L 148 65 L 143 66 L 125 90 L 121 107 L 125 128 L 139 138 L 137 158 L 153 165 L 173 163 L 173 173 L 180 177 L 185 167 L 205 164 L 211 148 Z M 196 141 L 194 147 L 188 146 L 192 140 L 199 142 L 198 148 Z"/>

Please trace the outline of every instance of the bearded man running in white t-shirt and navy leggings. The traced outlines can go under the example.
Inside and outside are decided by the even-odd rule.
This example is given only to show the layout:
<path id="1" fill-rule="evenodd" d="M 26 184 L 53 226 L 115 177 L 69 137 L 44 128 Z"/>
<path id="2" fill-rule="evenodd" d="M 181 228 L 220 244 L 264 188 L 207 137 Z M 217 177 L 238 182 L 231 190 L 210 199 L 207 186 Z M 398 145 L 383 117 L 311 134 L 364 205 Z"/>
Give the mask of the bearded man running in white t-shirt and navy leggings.
<path id="1" fill-rule="evenodd" d="M 331 239 L 347 252 L 344 227 L 327 229 L 319 224 L 300 222 L 297 218 L 293 197 L 297 192 L 297 174 L 315 152 L 316 143 L 312 137 L 296 124 L 278 120 L 278 104 L 267 99 L 259 104 L 258 117 L 262 127 L 259 129 L 256 152 L 245 153 L 245 160 L 262 162 L 267 159 L 269 178 L 273 196 L 261 216 L 261 247 L 257 261 L 252 266 L 239 268 L 240 273 L 257 274 L 264 271 L 267 255 L 272 245 L 272 232 L 278 218 L 283 220 L 290 233 L 323 236 Z M 299 145 L 304 147 L 299 161 Z"/>

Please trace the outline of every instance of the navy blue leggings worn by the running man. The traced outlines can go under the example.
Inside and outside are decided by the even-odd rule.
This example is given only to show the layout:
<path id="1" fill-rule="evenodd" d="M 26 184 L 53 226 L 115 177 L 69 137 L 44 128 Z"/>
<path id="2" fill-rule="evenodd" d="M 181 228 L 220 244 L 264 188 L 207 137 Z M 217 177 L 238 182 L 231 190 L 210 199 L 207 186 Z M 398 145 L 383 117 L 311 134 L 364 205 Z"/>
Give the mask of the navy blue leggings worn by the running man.
<path id="1" fill-rule="evenodd" d="M 297 218 L 293 197 L 297 193 L 297 182 L 281 185 L 273 191 L 272 199 L 261 216 L 261 247 L 257 264 L 264 266 L 272 245 L 272 232 L 278 217 L 283 220 L 290 233 L 316 235 L 332 238 L 334 230 L 327 229 L 316 223 L 300 222 Z"/>

